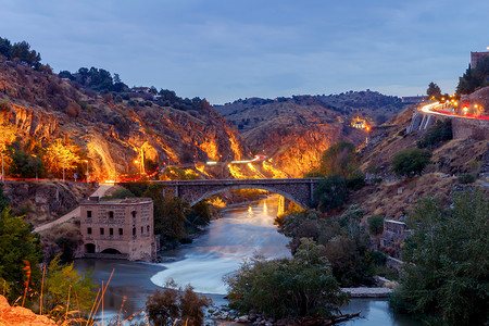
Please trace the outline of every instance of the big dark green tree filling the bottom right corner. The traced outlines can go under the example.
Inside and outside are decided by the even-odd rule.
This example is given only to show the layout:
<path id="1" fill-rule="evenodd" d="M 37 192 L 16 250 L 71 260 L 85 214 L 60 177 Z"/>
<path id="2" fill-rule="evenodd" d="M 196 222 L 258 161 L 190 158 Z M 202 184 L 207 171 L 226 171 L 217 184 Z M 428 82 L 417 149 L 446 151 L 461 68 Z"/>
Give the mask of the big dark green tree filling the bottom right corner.
<path id="1" fill-rule="evenodd" d="M 484 325 L 489 318 L 489 202 L 455 193 L 453 209 L 423 199 L 409 215 L 400 288 L 391 305 L 430 325 Z"/>

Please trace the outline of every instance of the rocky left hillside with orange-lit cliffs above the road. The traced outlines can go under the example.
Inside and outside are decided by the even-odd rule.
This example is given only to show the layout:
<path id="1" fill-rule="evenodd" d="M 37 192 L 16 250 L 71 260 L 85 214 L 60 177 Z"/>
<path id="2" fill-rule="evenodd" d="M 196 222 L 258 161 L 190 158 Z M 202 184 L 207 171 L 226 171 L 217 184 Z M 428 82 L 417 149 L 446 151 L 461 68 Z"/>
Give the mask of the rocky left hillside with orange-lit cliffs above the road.
<path id="1" fill-rule="evenodd" d="M 0 55 L 0 125 L 14 126 L 30 148 L 70 139 L 86 153 L 92 180 L 134 173 L 141 151 L 159 165 L 251 158 L 234 126 L 205 100 L 183 106 L 148 95 L 125 98 Z"/>

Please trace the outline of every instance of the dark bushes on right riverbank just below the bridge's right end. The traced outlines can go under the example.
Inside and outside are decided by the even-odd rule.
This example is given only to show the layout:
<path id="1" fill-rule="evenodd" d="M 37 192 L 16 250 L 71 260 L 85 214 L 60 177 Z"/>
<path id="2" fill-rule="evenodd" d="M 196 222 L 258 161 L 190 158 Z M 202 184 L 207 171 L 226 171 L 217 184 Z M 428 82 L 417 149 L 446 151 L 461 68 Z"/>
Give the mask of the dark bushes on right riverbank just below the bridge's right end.
<path id="1" fill-rule="evenodd" d="M 324 246 L 322 255 L 331 264 L 333 275 L 341 286 L 369 284 L 375 266 L 367 249 L 368 235 L 360 226 L 363 215 L 358 205 L 336 218 L 321 217 L 314 210 L 293 212 L 283 216 L 278 231 L 291 238 L 289 248 L 293 255 L 302 238 Z"/>

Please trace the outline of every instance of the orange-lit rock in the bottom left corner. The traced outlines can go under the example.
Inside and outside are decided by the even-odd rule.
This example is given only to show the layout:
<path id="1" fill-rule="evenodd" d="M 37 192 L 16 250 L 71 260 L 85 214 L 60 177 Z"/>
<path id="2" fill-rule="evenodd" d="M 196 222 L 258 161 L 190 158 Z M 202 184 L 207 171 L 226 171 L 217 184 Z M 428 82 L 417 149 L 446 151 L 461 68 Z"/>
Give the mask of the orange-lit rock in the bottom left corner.
<path id="1" fill-rule="evenodd" d="M 36 315 L 22 306 L 10 306 L 5 297 L 0 296 L 0 326 L 54 326 L 57 323 L 47 316 Z"/>

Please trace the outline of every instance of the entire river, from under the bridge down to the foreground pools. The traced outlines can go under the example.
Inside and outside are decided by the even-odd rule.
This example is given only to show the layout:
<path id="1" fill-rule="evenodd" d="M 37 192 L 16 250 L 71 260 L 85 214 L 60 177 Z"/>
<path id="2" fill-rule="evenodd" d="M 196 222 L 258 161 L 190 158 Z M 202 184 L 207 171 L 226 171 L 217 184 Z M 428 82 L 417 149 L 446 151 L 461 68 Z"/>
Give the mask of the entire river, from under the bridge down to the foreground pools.
<path id="1" fill-rule="evenodd" d="M 93 279 L 106 284 L 112 271 L 103 313 L 108 321 L 121 313 L 123 318 L 140 312 L 148 294 L 174 279 L 179 286 L 190 284 L 196 291 L 212 298 L 214 304 L 226 304 L 223 277 L 236 271 L 241 262 L 254 254 L 266 258 L 290 256 L 288 238 L 277 233 L 273 221 L 277 213 L 277 197 L 228 208 L 193 243 L 165 254 L 170 262 L 161 264 L 116 260 L 77 260 L 75 267 L 92 268 Z M 102 311 L 102 308 L 99 309 Z M 386 300 L 353 299 L 343 313 L 362 311 L 361 318 L 342 325 L 417 325 L 389 311 Z"/>

